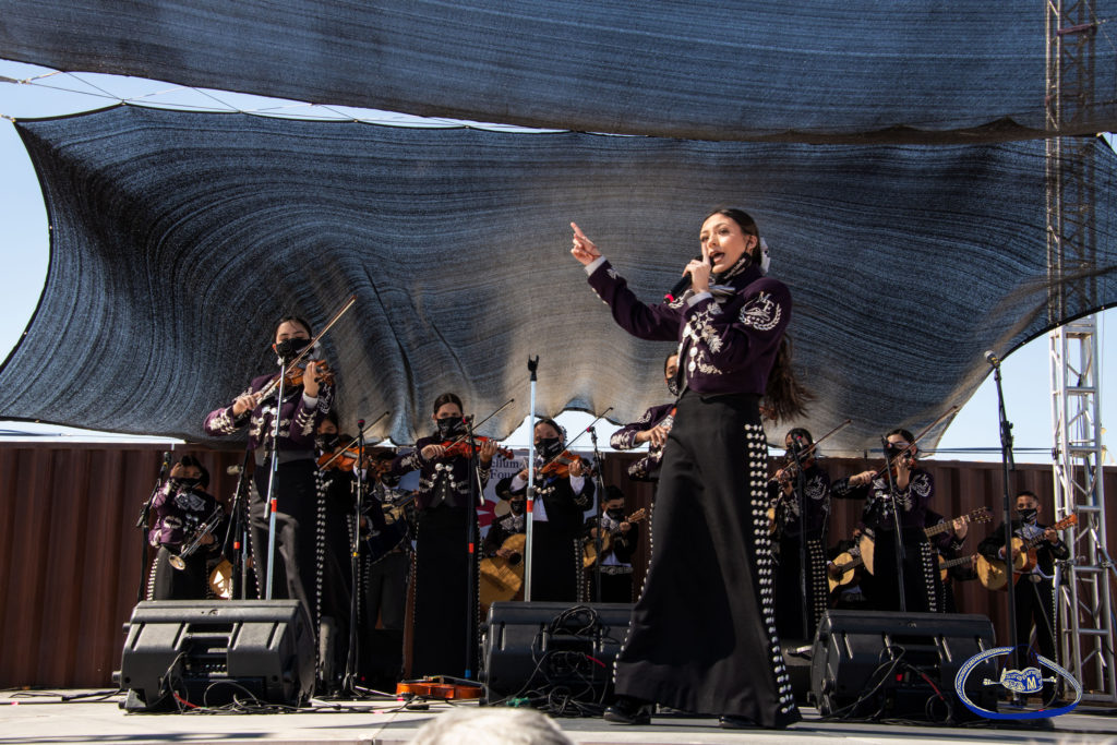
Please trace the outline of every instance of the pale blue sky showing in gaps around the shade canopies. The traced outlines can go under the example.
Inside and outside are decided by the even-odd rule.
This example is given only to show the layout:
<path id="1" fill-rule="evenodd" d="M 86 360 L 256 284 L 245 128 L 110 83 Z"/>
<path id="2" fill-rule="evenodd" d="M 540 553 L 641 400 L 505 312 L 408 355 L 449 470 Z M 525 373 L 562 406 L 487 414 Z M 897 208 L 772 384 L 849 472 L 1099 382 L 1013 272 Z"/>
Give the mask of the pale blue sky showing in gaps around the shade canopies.
<path id="1" fill-rule="evenodd" d="M 0 76 L 26 79 L 49 74 L 44 68 L 0 60 Z M 10 118 L 34 118 L 77 111 L 98 108 L 116 102 L 116 97 L 137 98 L 161 105 L 189 107 L 275 108 L 273 113 L 290 116 L 335 117 L 357 116 L 367 121 L 408 122 L 422 126 L 439 126 L 438 120 L 418 120 L 384 112 L 366 112 L 349 107 L 308 107 L 298 102 L 276 102 L 258 96 L 233 95 L 221 92 L 198 93 L 172 84 L 104 75 L 54 74 L 34 85 L 0 83 L 0 256 L 4 259 L 4 292 L 0 293 L 0 357 L 6 356 L 19 341 L 30 321 L 42 290 L 48 261 L 46 208 L 30 161 L 16 134 Z M 232 105 L 222 108 L 221 102 Z M 1100 316 L 1101 334 L 1101 422 L 1117 421 L 1117 399 L 1106 395 L 1115 381 L 1113 369 L 1106 364 L 1113 356 L 1108 343 L 1111 334 L 1108 321 L 1117 318 L 1114 311 Z M 1003 350 L 996 350 L 1002 353 Z M 1051 393 L 1047 337 L 1041 337 L 1009 355 L 1003 364 L 1005 405 L 1014 423 L 1015 443 L 1020 449 L 1016 459 L 1028 462 L 1050 462 Z M 963 404 L 963 402 L 955 402 Z M 2 416 L 2 412 L 0 412 Z M 577 431 L 590 421 L 585 417 L 571 417 L 567 429 Z M 0 430 L 29 429 L 22 424 L 3 424 Z M 605 436 L 613 427 L 599 429 Z M 526 428 L 513 437 L 513 447 L 526 443 Z M 589 443 L 586 443 L 589 445 Z M 958 460 L 1000 459 L 996 393 L 992 375 L 965 402 L 954 423 L 939 442 L 939 449 L 967 449 L 971 452 L 942 452 L 941 457 Z M 987 449 L 985 452 L 974 450 Z M 1039 452 L 1029 452 L 1039 450 Z M 1107 457 L 1107 464 L 1113 462 Z"/>

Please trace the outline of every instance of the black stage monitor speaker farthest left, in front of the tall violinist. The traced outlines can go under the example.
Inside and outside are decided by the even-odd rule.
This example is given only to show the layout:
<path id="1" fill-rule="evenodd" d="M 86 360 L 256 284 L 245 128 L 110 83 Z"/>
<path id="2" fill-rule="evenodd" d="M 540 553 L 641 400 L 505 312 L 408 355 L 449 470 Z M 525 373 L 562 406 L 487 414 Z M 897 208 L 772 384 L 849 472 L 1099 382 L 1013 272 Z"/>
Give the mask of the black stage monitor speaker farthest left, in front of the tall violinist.
<path id="1" fill-rule="evenodd" d="M 314 693 L 314 636 L 295 600 L 143 601 L 125 631 L 113 677 L 128 710 L 173 710 L 172 694 L 297 707 Z"/>

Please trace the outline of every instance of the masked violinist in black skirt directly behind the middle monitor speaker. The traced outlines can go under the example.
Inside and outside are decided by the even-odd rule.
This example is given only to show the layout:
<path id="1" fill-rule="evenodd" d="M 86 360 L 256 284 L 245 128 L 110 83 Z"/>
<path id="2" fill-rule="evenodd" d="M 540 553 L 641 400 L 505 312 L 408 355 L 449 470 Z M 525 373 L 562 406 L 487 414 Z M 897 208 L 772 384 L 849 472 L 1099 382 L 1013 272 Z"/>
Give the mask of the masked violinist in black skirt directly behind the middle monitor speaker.
<path id="1" fill-rule="evenodd" d="M 535 423 L 535 503 L 532 513 L 532 600 L 573 603 L 582 577 L 582 525 L 593 506 L 593 479 L 581 459 L 567 472 L 548 472 L 566 447 L 563 428 L 553 419 Z M 546 470 L 546 464 L 553 464 Z M 502 499 L 527 491 L 527 469 L 506 476 L 496 485 Z"/>

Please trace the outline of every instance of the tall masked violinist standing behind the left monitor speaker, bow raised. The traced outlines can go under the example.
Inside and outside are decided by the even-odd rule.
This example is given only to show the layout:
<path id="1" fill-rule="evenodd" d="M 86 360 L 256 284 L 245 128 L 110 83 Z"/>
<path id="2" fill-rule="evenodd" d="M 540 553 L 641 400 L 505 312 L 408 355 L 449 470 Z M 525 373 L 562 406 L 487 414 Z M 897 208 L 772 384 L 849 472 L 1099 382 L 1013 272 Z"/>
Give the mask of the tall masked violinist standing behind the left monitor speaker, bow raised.
<path id="1" fill-rule="evenodd" d="M 313 336 L 311 325 L 295 316 L 279 319 L 273 333 L 271 348 L 286 360 L 293 360 Z M 284 385 L 284 399 L 276 402 L 278 390 L 267 398 L 261 391 L 277 373 L 252 379 L 248 389 L 231 405 L 211 411 L 206 417 L 206 433 L 232 434 L 248 427 L 248 449 L 256 460 L 256 493 L 249 504 L 251 519 L 252 565 L 257 586 L 266 594 L 268 572 L 274 571 L 274 599 L 298 600 L 306 611 L 307 625 L 314 628 L 313 593 L 315 590 L 315 536 L 317 495 L 315 493 L 314 437 L 334 399 L 331 383 L 321 380 L 318 364 L 306 363 L 303 382 Z M 278 409 L 279 436 L 275 438 Z M 271 469 L 271 450 L 277 450 L 271 497 L 276 499 L 276 565 L 268 566 L 268 517 L 266 500 Z M 317 637 L 317 631 L 315 632 Z"/>

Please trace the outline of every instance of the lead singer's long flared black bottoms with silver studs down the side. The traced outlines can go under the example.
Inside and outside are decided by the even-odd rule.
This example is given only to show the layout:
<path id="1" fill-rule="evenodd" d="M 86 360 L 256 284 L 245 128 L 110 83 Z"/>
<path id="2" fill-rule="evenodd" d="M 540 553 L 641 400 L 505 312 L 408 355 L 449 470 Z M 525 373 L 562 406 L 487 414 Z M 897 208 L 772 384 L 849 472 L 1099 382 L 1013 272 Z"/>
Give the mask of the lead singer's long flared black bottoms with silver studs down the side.
<path id="1" fill-rule="evenodd" d="M 757 397 L 685 393 L 618 694 L 767 727 L 799 720 L 775 629 L 766 484 Z"/>

